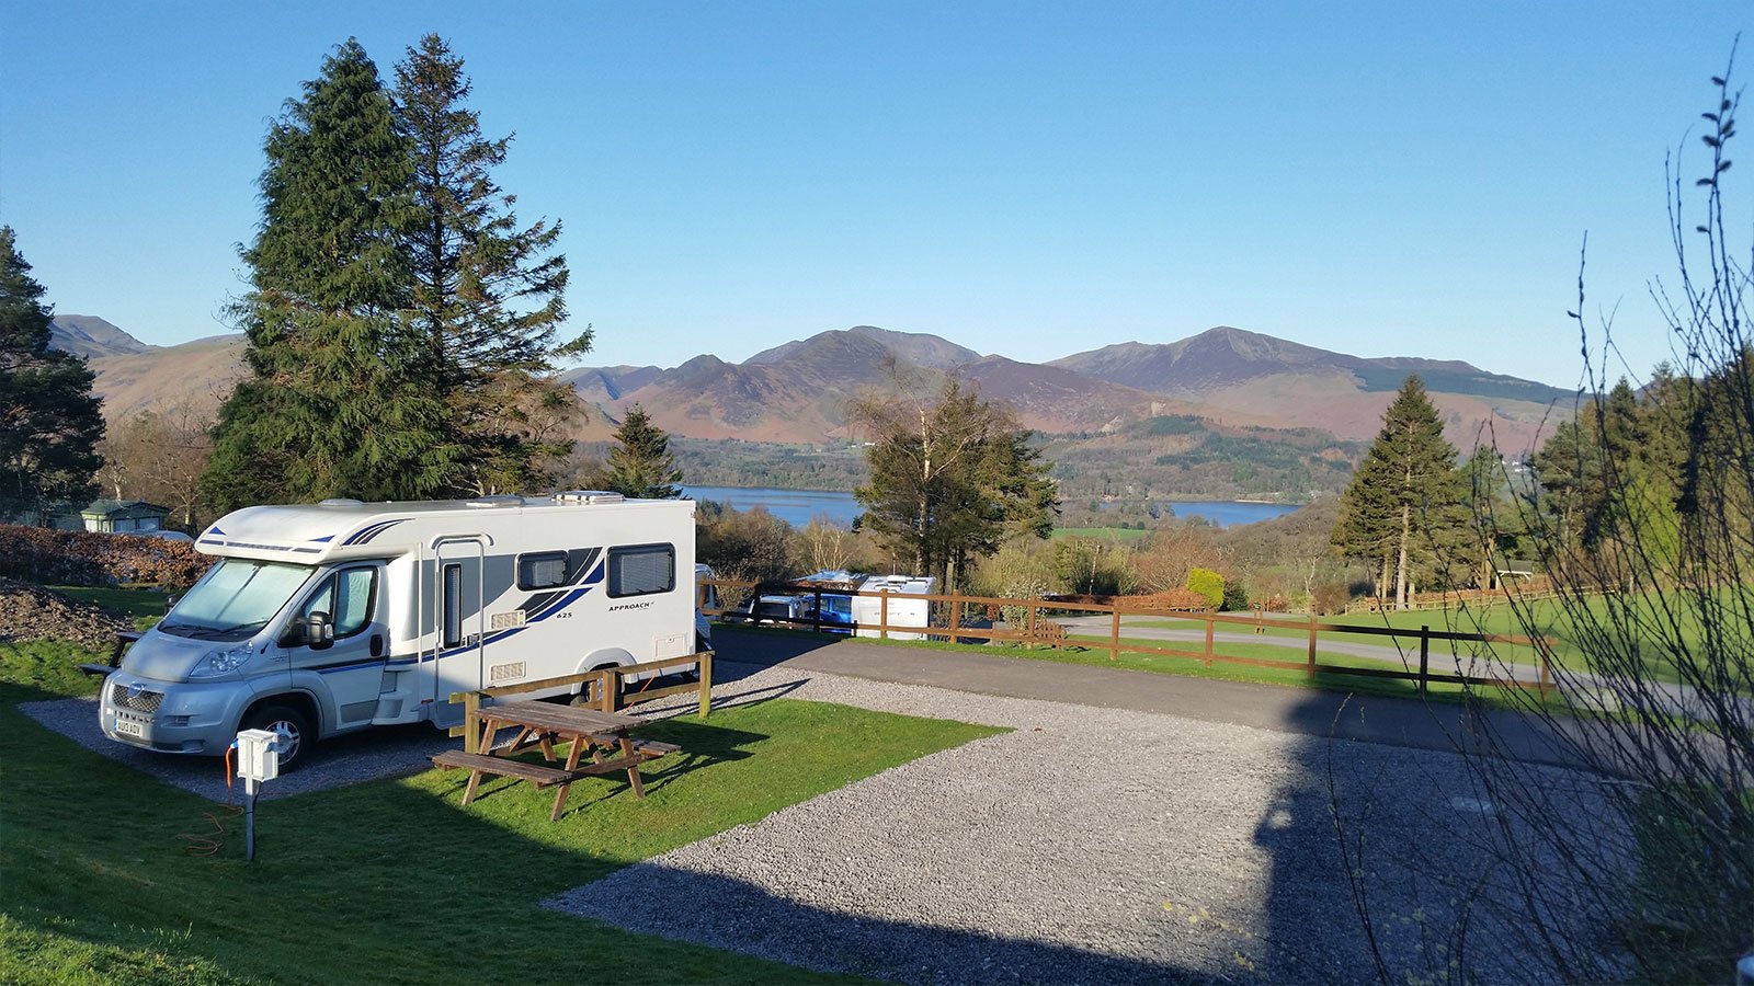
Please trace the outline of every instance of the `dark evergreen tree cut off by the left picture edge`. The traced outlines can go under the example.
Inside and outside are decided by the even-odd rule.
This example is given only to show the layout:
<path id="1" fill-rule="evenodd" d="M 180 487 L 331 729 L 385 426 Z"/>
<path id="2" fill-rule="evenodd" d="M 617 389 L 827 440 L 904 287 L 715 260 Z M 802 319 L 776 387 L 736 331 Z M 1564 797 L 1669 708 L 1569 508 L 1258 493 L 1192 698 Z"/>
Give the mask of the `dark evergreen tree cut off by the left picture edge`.
<path id="1" fill-rule="evenodd" d="M 54 314 L 0 226 L 0 518 L 49 523 L 96 491 L 103 414 L 86 361 L 49 349 Z"/>

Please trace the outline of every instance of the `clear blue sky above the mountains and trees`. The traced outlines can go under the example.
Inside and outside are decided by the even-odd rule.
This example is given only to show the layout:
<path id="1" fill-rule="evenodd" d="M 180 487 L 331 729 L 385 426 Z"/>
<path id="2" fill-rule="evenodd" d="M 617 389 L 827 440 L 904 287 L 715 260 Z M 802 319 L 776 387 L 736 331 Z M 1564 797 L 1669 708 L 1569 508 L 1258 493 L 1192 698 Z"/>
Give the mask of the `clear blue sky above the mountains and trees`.
<path id="1" fill-rule="evenodd" d="M 63 314 L 232 332 L 268 121 L 349 35 L 389 79 L 438 32 L 517 135 L 519 216 L 565 225 L 591 365 L 852 325 L 1044 361 L 1231 325 L 1573 386 L 1586 232 L 1586 311 L 1617 305 L 1635 370 L 1668 354 L 1663 161 L 1686 139 L 1703 174 L 1689 128 L 1750 14 L 0 0 L 0 223 Z"/>

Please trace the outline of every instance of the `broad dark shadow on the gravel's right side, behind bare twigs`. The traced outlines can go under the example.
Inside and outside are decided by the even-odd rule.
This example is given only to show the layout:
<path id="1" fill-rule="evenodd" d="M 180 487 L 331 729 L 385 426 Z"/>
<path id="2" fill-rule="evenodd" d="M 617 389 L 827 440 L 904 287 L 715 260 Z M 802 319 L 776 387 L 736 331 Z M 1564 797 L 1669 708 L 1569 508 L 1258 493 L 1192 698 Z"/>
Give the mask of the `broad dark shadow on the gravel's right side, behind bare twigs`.
<path id="1" fill-rule="evenodd" d="M 1426 718 L 1422 728 L 1415 719 Z M 1514 718 L 1486 712 L 1515 730 Z M 1479 756 L 1470 712 L 1312 693 L 1254 842 L 1270 856 L 1259 972 L 1294 981 L 1545 982 L 1524 939 L 1498 839 L 1519 828 L 1479 770 L 1528 772 L 1552 804 L 1589 811 L 1594 781 L 1554 765 L 1551 737 L 1522 726 L 1514 763 Z M 1403 744 L 1403 735 L 1422 733 Z M 1444 749 L 1444 739 L 1451 744 Z M 1358 740 L 1365 742 L 1358 742 Z M 1461 751 L 1473 751 L 1463 756 Z M 1526 756 L 1526 760 L 1524 760 Z M 1554 916 L 1547 916 L 1552 919 Z"/>

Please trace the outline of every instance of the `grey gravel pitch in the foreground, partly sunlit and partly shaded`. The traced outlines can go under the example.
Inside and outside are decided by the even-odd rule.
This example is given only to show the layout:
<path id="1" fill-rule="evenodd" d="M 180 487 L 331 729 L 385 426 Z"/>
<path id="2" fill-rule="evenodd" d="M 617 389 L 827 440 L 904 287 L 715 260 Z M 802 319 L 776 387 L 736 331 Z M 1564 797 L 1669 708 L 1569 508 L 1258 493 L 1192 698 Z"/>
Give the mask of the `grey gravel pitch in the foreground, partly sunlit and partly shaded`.
<path id="1" fill-rule="evenodd" d="M 1361 877 L 1394 979 L 1447 965 L 1451 877 L 1487 872 L 1458 833 L 1493 807 L 1452 754 L 784 667 L 714 702 L 772 695 L 1014 732 L 547 904 L 902 982 L 1358 981 L 1377 974 L 1331 804 L 1366 835 Z M 1515 954 L 1470 961 L 1486 979 L 1538 977 Z"/>

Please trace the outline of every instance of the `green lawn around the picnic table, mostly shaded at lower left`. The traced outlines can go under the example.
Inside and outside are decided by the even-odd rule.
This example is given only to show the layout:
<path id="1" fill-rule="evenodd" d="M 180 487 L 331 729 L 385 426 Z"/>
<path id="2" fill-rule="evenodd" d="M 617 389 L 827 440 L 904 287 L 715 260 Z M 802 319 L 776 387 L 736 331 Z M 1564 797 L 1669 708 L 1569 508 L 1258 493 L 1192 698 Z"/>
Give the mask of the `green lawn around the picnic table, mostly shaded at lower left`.
<path id="1" fill-rule="evenodd" d="M 681 744 L 624 781 L 507 779 L 460 807 L 426 770 L 242 818 L 44 730 L 19 702 L 93 691 L 65 644 L 0 646 L 0 982 L 798 982 L 826 979 L 547 911 L 554 893 L 998 730 L 770 700 L 642 726 Z M 214 837 L 209 814 L 225 833 Z M 216 853 L 189 837 L 214 837 Z"/>

